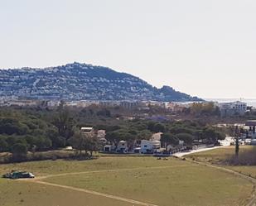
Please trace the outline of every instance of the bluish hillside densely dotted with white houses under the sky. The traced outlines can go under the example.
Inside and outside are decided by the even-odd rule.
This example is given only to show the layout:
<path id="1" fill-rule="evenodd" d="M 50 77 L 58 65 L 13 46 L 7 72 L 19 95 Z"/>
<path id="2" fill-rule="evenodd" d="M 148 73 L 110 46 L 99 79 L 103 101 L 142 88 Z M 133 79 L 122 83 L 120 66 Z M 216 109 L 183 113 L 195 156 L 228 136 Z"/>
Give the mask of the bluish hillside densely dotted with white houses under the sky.
<path id="1" fill-rule="evenodd" d="M 73 63 L 45 69 L 0 69 L 0 97 L 66 100 L 201 101 L 168 86 L 157 89 L 131 74 Z"/>

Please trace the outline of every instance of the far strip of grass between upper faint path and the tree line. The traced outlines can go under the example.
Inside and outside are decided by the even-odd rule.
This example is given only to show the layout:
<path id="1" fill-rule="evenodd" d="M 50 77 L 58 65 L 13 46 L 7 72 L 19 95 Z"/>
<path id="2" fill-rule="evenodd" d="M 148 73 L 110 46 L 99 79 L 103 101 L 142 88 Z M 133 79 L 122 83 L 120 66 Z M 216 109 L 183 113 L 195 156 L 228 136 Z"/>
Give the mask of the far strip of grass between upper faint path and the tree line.
<path id="1" fill-rule="evenodd" d="M 181 160 L 171 160 L 171 165 L 179 165 Z M 137 167 L 170 165 L 170 161 L 156 160 L 153 157 L 101 157 L 96 160 L 43 160 L 17 164 L 0 165 L 0 173 L 10 170 L 27 170 L 36 176 L 84 172 L 94 170 L 114 170 Z"/>

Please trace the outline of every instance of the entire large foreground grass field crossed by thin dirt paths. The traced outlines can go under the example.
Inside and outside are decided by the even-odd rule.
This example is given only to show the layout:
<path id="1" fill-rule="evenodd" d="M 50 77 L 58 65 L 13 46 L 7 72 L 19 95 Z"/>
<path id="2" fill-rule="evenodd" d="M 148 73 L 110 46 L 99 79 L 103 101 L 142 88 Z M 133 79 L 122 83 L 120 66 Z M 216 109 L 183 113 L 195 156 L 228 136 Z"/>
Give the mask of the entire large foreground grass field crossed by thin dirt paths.
<path id="1" fill-rule="evenodd" d="M 159 206 L 243 205 L 253 191 L 248 180 L 174 158 L 101 157 L 0 165 L 1 173 L 12 169 L 29 170 L 41 179 L 0 179 L 1 206 L 142 205 L 87 190 Z"/>

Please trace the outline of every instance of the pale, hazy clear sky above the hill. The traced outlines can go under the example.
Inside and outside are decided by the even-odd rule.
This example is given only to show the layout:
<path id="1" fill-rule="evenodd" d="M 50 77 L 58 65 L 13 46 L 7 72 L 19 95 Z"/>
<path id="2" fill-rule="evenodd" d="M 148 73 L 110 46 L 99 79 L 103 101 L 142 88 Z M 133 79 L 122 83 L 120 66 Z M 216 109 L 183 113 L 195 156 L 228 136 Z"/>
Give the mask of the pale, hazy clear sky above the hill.
<path id="1" fill-rule="evenodd" d="M 78 61 L 201 98 L 256 98 L 255 0 L 0 0 L 0 68 Z"/>

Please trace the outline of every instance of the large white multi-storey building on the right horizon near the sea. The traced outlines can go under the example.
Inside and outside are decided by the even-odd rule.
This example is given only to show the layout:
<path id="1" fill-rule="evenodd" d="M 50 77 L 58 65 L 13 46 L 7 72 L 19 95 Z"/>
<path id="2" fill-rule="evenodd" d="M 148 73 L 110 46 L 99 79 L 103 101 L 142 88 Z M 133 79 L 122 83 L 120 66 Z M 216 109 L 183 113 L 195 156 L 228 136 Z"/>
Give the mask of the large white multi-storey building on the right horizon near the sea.
<path id="1" fill-rule="evenodd" d="M 247 111 L 247 103 L 234 102 L 234 103 L 219 103 L 221 116 L 244 115 Z"/>

